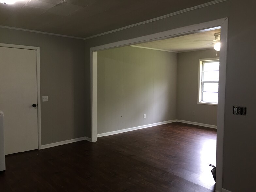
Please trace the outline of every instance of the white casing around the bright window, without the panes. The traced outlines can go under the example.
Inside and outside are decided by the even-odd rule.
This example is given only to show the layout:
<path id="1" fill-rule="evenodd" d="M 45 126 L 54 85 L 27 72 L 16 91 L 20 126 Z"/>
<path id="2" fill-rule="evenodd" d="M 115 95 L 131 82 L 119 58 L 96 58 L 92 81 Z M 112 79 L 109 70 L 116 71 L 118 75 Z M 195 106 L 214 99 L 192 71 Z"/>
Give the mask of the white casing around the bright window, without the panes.
<path id="1" fill-rule="evenodd" d="M 210 102 L 202 102 L 202 66 L 203 62 L 205 61 L 219 61 L 219 57 L 216 58 L 206 58 L 206 59 L 199 59 L 198 64 L 198 93 L 197 93 L 197 104 L 206 104 L 206 105 L 218 105 L 217 103 L 210 103 Z"/>

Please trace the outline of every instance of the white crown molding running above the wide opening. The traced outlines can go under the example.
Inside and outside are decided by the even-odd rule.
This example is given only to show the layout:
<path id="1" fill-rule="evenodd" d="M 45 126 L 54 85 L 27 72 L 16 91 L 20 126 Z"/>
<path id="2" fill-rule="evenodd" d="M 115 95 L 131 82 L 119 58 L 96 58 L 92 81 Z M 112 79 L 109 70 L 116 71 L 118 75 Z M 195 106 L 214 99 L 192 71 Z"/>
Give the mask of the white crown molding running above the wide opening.
<path id="1" fill-rule="evenodd" d="M 164 18 L 167 18 L 167 17 L 171 17 L 171 16 L 174 16 L 174 15 L 178 15 L 178 14 L 185 13 L 185 12 L 188 12 L 188 11 L 192 11 L 192 10 L 195 10 L 195 9 L 207 7 L 209 5 L 214 5 L 214 4 L 217 4 L 217 3 L 224 2 L 224 1 L 228 1 L 228 0 L 211 1 L 211 2 L 208 2 L 208 3 L 204 3 L 204 4 L 201 4 L 201 5 L 191 7 L 191 8 L 186 8 L 186 9 L 183 9 L 183 10 L 180 10 L 180 11 L 176 11 L 174 13 L 170 13 L 170 14 L 167 14 L 167 15 L 163 15 L 163 16 L 160 16 L 160 17 L 156 17 L 156 18 L 153 18 L 153 19 L 146 20 L 146 21 L 142 21 L 142 22 L 139 22 L 139 23 L 136 23 L 136 24 L 121 27 L 119 29 L 114 29 L 114 30 L 111 30 L 111 31 L 107 31 L 107 32 L 104 32 L 104 33 L 97 34 L 97 35 L 92 35 L 92 36 L 84 38 L 84 40 L 91 39 L 91 38 L 94 38 L 94 37 L 99 37 L 99 36 L 106 35 L 106 34 L 109 34 L 109 33 L 114 33 L 114 32 L 117 32 L 117 31 L 121 31 L 121 30 L 124 30 L 124 29 L 135 27 L 135 26 L 138 26 L 138 25 L 150 23 L 150 22 L 153 22 L 153 21 L 157 21 L 157 20 L 160 20 L 160 19 L 164 19 Z"/>

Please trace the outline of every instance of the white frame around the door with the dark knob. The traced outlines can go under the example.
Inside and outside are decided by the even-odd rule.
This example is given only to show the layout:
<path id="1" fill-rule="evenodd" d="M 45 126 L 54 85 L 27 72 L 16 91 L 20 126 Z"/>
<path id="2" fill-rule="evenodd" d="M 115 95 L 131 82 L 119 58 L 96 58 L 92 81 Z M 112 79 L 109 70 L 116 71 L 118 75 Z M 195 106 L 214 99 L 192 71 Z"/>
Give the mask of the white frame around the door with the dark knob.
<path id="1" fill-rule="evenodd" d="M 37 129 L 38 129 L 38 149 L 41 149 L 41 93 L 40 93 L 40 48 L 26 45 L 13 45 L 0 43 L 0 47 L 29 49 L 36 51 L 36 74 L 37 74 Z"/>

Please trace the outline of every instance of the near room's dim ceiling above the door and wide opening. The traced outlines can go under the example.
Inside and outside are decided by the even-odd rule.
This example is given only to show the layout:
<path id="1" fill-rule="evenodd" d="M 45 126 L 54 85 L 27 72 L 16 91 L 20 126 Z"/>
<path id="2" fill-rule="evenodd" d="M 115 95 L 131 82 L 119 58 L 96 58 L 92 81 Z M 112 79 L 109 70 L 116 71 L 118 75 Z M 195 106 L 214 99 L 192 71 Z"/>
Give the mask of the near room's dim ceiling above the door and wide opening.
<path id="1" fill-rule="evenodd" d="M 212 0 L 21 0 L 0 3 L 0 25 L 86 38 Z"/>

